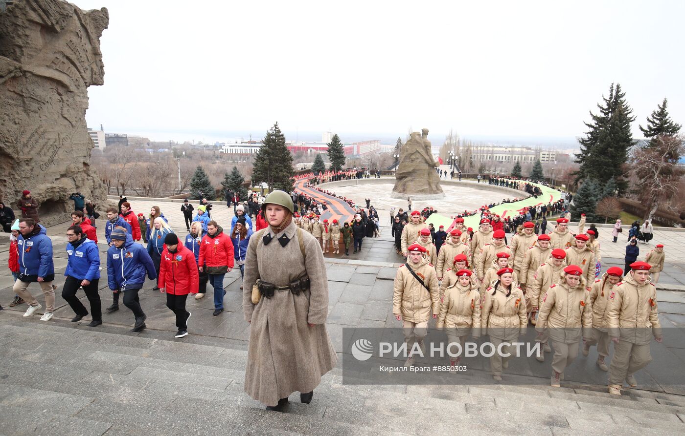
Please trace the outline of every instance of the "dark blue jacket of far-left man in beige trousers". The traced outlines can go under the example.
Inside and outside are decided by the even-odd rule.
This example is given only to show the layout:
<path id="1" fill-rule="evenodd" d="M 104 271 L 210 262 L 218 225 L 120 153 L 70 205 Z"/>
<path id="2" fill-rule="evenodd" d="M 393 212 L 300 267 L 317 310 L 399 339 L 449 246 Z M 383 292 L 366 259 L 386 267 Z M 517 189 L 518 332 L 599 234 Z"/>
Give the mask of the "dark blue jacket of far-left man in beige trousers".
<path id="1" fill-rule="evenodd" d="M 55 265 L 52 262 L 52 241 L 45 227 L 38 224 L 37 234 L 24 239 L 19 234 L 16 249 L 19 252 L 19 273 L 22 282 L 37 282 L 43 277 L 45 282 L 55 280 Z M 23 280 L 22 280 L 23 278 Z"/>

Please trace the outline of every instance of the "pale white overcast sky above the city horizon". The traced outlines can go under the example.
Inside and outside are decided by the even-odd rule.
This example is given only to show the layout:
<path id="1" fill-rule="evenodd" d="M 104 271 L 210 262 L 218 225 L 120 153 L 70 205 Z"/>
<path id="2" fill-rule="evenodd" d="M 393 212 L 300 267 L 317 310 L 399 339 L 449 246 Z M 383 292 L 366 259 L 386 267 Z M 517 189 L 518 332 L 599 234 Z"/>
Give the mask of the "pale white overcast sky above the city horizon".
<path id="1" fill-rule="evenodd" d="M 680 0 L 74 3 L 110 12 L 110 132 L 575 137 L 612 82 L 636 136 L 664 96 L 685 122 Z"/>

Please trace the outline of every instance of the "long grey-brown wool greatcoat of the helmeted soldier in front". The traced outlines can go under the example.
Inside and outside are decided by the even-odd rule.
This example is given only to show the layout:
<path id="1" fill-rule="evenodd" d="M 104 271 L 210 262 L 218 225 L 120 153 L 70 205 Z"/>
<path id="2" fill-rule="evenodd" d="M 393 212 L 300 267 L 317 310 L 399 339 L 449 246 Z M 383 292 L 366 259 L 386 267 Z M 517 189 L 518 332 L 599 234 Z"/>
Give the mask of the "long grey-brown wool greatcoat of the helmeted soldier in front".
<path id="1" fill-rule="evenodd" d="M 264 245 L 267 233 L 273 239 Z M 277 239 L 284 233 L 290 242 L 282 247 Z M 295 223 L 277 235 L 269 227 L 260 238 L 251 238 L 247 247 L 242 308 L 251 327 L 245 392 L 266 405 L 276 405 L 279 398 L 292 392 L 311 392 L 338 361 L 325 325 L 328 280 L 323 253 L 312 234 L 301 233 L 306 260 Z M 299 295 L 275 290 L 273 297 L 262 296 L 259 303 L 252 304 L 252 286 L 257 279 L 286 286 L 305 275 L 310 279 L 310 290 Z"/>

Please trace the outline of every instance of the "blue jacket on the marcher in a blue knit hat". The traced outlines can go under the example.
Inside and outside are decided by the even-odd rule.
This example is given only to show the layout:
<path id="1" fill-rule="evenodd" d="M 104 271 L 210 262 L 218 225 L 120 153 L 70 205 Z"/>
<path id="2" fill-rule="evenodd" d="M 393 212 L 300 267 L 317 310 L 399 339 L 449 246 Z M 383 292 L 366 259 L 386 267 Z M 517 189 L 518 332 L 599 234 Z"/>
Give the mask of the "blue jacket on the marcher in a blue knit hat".
<path id="1" fill-rule="evenodd" d="M 114 245 L 107 250 L 107 283 L 110 289 L 140 289 L 145 283 L 145 273 L 150 280 L 157 278 L 155 264 L 145 247 L 136 244 L 133 236 L 126 235 L 123 247 Z"/>

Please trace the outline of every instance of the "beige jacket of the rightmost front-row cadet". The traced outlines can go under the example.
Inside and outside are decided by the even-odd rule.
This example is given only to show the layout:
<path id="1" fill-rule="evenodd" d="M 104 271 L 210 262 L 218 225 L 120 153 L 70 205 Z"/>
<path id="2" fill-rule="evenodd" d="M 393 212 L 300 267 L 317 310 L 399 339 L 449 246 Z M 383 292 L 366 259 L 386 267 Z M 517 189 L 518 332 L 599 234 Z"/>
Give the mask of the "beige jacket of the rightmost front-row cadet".
<path id="1" fill-rule="evenodd" d="M 650 282 L 639 285 L 628 273 L 611 289 L 608 303 L 606 326 L 612 338 L 645 345 L 651 336 L 662 337 L 656 287 Z"/>

